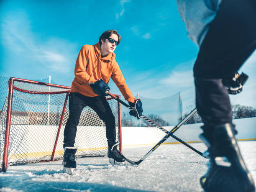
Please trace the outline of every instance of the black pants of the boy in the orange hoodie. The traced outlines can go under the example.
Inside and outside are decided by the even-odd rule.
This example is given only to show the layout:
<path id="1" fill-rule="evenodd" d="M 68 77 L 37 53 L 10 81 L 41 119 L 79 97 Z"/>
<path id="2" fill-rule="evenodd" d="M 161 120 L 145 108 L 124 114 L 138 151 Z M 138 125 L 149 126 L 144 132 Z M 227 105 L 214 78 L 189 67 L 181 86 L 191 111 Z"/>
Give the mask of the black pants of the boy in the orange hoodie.
<path id="1" fill-rule="evenodd" d="M 64 144 L 63 147 L 73 147 L 77 133 L 77 125 L 84 107 L 92 108 L 99 118 L 106 125 L 106 136 L 108 146 L 115 144 L 115 117 L 104 96 L 86 97 L 76 92 L 69 94 L 69 118 L 64 129 Z"/>

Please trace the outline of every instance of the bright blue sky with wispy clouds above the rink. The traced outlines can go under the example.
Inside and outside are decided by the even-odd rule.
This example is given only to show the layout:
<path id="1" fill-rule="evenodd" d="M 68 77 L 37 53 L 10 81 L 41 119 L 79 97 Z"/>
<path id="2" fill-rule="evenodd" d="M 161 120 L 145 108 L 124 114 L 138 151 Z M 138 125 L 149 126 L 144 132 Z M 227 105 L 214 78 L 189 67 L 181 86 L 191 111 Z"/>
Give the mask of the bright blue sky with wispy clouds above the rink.
<path id="1" fill-rule="evenodd" d="M 116 59 L 133 95 L 163 98 L 181 92 L 194 105 L 192 67 L 197 46 L 187 37 L 174 0 L 74 0 L 0 2 L 0 75 L 45 79 L 71 86 L 84 44 L 116 29 Z M 256 107 L 256 54 L 244 65 L 249 74 L 233 103 Z M 110 81 L 111 92 L 120 94 Z"/>

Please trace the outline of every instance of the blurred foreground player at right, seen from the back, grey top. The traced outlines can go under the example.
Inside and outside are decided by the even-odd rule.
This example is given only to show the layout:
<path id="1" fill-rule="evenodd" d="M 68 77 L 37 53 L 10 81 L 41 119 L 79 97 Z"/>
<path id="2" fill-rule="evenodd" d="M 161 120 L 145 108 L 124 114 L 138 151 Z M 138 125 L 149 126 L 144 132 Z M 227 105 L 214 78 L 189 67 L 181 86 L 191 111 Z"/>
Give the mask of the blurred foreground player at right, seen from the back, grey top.
<path id="1" fill-rule="evenodd" d="M 248 78 L 238 69 L 256 49 L 256 0 L 177 0 L 187 34 L 200 48 L 194 65 L 196 107 L 210 166 L 207 192 L 253 192 L 255 186 L 235 139 L 228 93 Z"/>

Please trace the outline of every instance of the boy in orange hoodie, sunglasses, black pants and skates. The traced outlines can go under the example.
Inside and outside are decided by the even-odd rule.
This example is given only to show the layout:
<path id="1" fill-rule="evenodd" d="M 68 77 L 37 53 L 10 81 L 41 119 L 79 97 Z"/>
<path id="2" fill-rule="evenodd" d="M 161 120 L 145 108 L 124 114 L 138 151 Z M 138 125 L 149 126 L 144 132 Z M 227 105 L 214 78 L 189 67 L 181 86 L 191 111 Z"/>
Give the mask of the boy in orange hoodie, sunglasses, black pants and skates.
<path id="1" fill-rule="evenodd" d="M 143 110 L 141 101 L 134 99 L 115 60 L 113 52 L 120 43 L 120 39 L 117 31 L 105 31 L 97 44 L 82 46 L 77 56 L 74 69 L 75 77 L 69 95 L 69 118 L 64 129 L 64 168 L 76 168 L 74 154 L 77 148 L 74 147 L 74 140 L 80 115 L 87 105 L 95 110 L 106 125 L 110 163 L 125 161 L 117 149 L 115 117 L 105 98 L 110 91 L 110 87 L 108 87 L 110 77 L 118 86 L 125 100 L 135 109 L 130 114 L 141 118 Z"/>

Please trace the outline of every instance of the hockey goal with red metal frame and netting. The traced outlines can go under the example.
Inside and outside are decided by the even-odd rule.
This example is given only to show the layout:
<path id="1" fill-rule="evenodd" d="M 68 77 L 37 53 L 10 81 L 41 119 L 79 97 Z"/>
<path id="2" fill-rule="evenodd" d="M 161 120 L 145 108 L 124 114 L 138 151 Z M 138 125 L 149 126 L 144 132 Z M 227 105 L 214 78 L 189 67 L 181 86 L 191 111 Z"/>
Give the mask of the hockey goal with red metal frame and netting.
<path id="1" fill-rule="evenodd" d="M 7 166 L 55 161 L 63 156 L 63 132 L 69 117 L 70 87 L 11 77 L 0 113 L 0 171 Z M 120 95 L 116 95 L 120 97 Z M 115 116 L 121 140 L 120 104 L 106 98 Z M 88 106 L 77 127 L 76 156 L 106 156 L 105 124 Z"/>

